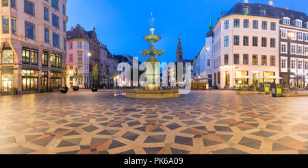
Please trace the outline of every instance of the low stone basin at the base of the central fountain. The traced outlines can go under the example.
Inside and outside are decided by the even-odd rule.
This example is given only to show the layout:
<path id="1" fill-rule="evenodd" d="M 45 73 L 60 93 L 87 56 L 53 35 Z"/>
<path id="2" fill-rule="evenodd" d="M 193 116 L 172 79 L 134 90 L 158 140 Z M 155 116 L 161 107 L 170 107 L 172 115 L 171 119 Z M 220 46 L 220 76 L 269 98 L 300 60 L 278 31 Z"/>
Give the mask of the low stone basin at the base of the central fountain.
<path id="1" fill-rule="evenodd" d="M 179 90 L 172 88 L 161 88 L 160 90 L 144 90 L 143 88 L 126 89 L 126 97 L 139 99 L 164 99 L 179 97 Z"/>

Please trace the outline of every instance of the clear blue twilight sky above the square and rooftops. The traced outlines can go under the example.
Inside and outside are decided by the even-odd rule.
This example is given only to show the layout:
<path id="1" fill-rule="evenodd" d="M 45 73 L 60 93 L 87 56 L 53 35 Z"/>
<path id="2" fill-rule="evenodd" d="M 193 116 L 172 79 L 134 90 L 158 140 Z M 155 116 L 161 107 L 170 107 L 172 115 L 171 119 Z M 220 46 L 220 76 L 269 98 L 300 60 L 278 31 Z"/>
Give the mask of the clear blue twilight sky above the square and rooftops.
<path id="1" fill-rule="evenodd" d="M 142 38 L 149 34 L 151 12 L 156 20 L 155 34 L 162 40 L 155 44 L 164 49 L 161 62 L 175 61 L 177 42 L 181 34 L 184 59 L 193 59 L 205 45 L 212 12 L 213 24 L 220 13 L 244 0 L 68 0 L 66 10 L 68 29 L 79 23 L 84 29 L 97 29 L 101 43 L 113 54 L 128 53 L 144 61 L 140 50 L 149 49 Z M 266 3 L 268 0 L 248 0 L 249 3 Z M 308 14 L 307 0 L 274 0 L 274 6 L 290 7 Z"/>

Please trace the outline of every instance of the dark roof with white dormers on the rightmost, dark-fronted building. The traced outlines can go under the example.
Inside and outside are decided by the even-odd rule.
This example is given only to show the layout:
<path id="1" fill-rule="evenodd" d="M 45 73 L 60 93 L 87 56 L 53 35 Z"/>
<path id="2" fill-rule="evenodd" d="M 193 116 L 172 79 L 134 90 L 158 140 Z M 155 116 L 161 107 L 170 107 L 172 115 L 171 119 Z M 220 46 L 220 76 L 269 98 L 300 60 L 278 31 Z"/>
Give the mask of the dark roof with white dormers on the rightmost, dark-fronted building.
<path id="1" fill-rule="evenodd" d="M 297 12 L 297 11 L 294 11 L 294 10 L 287 10 L 287 9 L 284 9 L 284 8 L 275 8 L 275 10 L 277 11 L 279 18 L 283 18 L 283 17 L 290 18 L 291 19 L 290 25 L 295 26 L 294 21 L 296 19 L 302 20 L 303 23 L 308 22 L 308 16 L 304 12 Z M 283 23 L 283 20 L 281 20 L 281 24 L 282 23 Z M 302 24 L 302 27 L 305 27 L 305 25 Z M 307 27 L 305 27 L 305 28 L 307 28 Z"/>

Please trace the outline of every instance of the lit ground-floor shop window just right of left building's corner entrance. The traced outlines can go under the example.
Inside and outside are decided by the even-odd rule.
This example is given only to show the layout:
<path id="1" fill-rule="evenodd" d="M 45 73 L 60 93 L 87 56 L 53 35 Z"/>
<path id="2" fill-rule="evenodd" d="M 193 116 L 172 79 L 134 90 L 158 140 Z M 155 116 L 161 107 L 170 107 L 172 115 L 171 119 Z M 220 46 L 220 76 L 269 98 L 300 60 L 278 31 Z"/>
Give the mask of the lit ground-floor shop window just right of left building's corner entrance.
<path id="1" fill-rule="evenodd" d="M 23 91 L 38 90 L 38 71 L 21 70 Z"/>

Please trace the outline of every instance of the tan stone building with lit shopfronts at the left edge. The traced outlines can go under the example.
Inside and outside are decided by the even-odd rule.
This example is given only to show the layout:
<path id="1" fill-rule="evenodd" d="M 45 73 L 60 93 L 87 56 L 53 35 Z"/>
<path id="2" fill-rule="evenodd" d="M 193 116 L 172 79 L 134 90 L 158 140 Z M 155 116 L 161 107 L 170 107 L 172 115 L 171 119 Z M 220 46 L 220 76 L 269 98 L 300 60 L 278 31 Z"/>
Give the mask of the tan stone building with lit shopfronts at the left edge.
<path id="1" fill-rule="evenodd" d="M 2 0 L 0 15 L 0 93 L 64 86 L 66 0 Z"/>

